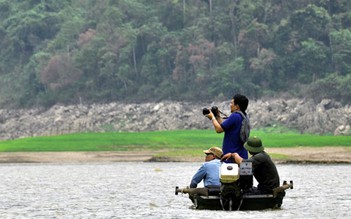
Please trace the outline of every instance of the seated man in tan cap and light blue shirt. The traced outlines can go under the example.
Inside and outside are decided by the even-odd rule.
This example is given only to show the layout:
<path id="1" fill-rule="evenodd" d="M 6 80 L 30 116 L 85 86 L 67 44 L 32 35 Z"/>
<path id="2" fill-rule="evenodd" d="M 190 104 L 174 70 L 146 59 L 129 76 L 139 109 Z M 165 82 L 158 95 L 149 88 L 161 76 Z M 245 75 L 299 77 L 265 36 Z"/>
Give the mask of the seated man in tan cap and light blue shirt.
<path id="1" fill-rule="evenodd" d="M 204 150 L 206 154 L 205 163 L 203 163 L 200 169 L 195 173 L 191 179 L 190 188 L 196 188 L 202 180 L 204 186 L 219 187 L 221 182 L 219 180 L 219 168 L 221 165 L 220 158 L 222 156 L 222 149 L 219 147 L 211 147 L 208 150 Z"/>

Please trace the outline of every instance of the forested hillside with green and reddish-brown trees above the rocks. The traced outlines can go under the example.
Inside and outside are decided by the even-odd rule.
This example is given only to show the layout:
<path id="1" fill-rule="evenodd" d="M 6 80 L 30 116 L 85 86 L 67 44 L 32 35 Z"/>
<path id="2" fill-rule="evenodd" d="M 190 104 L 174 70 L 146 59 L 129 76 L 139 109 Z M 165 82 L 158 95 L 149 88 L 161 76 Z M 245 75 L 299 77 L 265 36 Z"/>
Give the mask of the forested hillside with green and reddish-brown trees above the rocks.
<path id="1" fill-rule="evenodd" d="M 0 106 L 351 101 L 349 0 L 0 0 Z"/>

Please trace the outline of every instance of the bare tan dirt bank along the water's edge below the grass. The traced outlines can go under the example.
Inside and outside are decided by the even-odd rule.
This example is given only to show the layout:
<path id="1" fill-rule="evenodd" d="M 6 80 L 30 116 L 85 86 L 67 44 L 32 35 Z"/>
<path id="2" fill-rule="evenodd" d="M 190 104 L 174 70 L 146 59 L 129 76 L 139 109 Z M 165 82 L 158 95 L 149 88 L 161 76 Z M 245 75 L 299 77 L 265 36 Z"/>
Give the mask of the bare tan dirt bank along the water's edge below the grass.
<path id="1" fill-rule="evenodd" d="M 348 147 L 266 148 L 279 163 L 351 163 Z M 202 162 L 203 157 L 158 157 L 137 152 L 2 152 L 0 163 Z"/>

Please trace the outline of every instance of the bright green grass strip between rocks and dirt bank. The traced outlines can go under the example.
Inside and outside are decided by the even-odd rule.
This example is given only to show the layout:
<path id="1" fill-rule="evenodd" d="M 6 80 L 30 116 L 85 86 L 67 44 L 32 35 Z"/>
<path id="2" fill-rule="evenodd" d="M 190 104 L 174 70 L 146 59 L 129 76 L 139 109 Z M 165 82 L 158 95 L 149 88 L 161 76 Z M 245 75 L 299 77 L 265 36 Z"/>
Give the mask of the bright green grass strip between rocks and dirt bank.
<path id="1" fill-rule="evenodd" d="M 351 136 L 320 136 L 296 132 L 253 130 L 266 147 L 351 146 Z M 206 149 L 222 145 L 223 134 L 214 130 L 76 133 L 0 141 L 1 152 L 135 151 Z"/>

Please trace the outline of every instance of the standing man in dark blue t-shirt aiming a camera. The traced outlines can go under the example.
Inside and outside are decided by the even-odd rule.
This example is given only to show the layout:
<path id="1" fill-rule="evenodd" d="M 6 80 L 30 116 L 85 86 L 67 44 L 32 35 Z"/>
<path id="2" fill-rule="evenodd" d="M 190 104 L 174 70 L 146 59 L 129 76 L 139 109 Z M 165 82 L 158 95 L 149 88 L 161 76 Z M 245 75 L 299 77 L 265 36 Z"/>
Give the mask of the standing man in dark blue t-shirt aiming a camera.
<path id="1" fill-rule="evenodd" d="M 243 116 L 247 117 L 246 109 L 248 105 L 249 100 L 246 96 L 235 94 L 230 102 L 231 115 L 227 119 L 222 121 L 219 116 L 216 118 L 211 110 L 209 114 L 205 115 L 212 121 L 213 127 L 217 133 L 224 132 L 222 144 L 223 154 L 236 152 L 242 158 L 248 158 L 247 150 L 244 148 L 245 142 L 240 138 L 241 125 L 244 119 Z M 239 111 L 241 111 L 243 115 L 240 114 Z"/>

